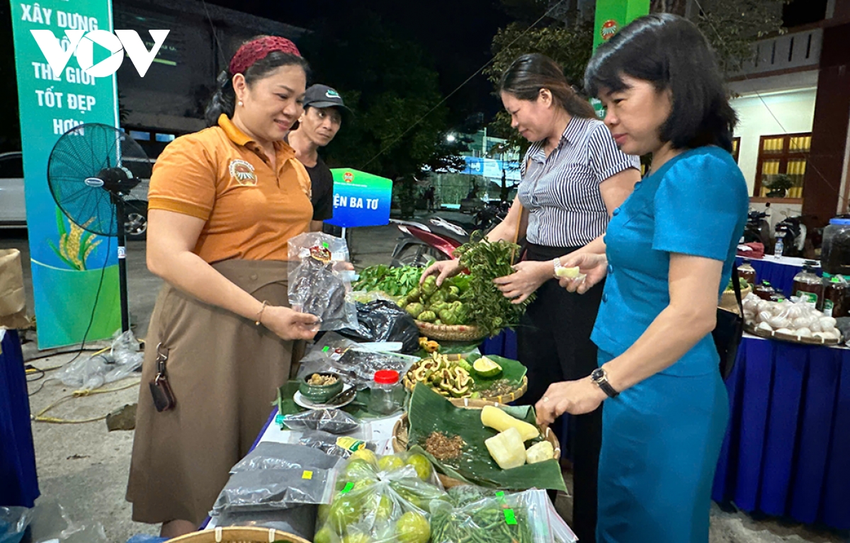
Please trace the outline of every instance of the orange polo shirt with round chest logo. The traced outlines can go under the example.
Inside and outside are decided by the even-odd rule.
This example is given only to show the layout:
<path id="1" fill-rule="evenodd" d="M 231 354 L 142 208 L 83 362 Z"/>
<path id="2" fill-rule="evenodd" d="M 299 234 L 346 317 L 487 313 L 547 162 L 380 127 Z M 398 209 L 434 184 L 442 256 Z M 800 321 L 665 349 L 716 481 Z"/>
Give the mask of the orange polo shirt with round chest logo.
<path id="1" fill-rule="evenodd" d="M 276 162 L 230 122 L 168 144 L 150 177 L 149 209 L 206 221 L 195 253 L 208 263 L 232 258 L 286 260 L 287 242 L 313 218 L 310 178 L 295 151 L 275 142 Z"/>

